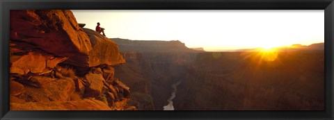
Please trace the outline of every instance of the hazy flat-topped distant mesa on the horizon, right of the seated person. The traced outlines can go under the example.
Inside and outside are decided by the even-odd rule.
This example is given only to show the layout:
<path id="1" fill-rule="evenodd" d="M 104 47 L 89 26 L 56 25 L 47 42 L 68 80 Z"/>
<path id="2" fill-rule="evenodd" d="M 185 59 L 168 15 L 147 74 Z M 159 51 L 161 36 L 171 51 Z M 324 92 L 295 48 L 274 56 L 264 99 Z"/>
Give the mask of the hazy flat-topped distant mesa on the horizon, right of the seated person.
<path id="1" fill-rule="evenodd" d="M 194 49 L 189 49 L 179 40 L 161 41 L 161 40 L 127 40 L 122 38 L 111 38 L 118 44 L 121 52 L 185 52 L 198 53 Z"/>

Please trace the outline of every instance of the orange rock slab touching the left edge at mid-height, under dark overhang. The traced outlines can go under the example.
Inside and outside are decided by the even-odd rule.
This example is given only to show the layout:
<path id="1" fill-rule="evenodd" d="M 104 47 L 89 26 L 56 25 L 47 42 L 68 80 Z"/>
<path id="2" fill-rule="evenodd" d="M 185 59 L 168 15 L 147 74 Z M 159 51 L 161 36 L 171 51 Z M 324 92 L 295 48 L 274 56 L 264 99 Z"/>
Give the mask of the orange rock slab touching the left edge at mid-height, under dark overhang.
<path id="1" fill-rule="evenodd" d="M 17 55 L 10 56 L 12 61 L 10 66 L 10 74 L 24 75 L 29 72 L 33 74 L 47 74 L 51 69 L 56 67 L 59 62 L 63 62 L 67 58 L 55 58 L 52 55 L 42 55 L 41 53 L 29 52 L 27 55 L 17 57 Z"/>

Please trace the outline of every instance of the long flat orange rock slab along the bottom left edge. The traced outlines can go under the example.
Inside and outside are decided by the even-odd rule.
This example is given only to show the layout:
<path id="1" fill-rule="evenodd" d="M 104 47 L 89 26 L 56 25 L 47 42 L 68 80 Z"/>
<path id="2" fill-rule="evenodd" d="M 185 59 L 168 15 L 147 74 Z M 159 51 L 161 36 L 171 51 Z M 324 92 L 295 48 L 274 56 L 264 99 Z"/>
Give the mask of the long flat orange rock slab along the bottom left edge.
<path id="1" fill-rule="evenodd" d="M 10 110 L 111 110 L 97 100 L 10 103 Z"/>

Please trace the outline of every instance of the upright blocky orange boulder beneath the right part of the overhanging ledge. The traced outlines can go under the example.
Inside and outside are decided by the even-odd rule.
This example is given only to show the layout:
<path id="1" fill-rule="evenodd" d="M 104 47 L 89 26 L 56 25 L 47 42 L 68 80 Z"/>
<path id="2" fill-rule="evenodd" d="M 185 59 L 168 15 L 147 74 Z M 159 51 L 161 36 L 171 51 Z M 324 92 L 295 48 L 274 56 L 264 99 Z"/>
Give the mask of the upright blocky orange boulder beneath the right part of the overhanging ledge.
<path id="1" fill-rule="evenodd" d="M 102 74 L 93 74 L 89 73 L 85 76 L 86 80 L 90 85 L 85 90 L 85 97 L 95 97 L 100 96 L 102 94 L 103 88 L 103 77 Z"/>

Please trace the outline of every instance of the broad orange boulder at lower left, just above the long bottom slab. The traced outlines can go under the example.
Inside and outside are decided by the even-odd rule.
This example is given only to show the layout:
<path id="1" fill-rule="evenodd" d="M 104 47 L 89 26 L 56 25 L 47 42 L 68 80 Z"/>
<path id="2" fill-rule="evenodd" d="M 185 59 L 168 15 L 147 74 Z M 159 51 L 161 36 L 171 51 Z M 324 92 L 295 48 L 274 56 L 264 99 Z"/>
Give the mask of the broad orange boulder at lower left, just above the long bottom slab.
<path id="1" fill-rule="evenodd" d="M 19 98 L 24 98 L 26 101 L 68 101 L 75 89 L 74 81 L 71 78 L 33 76 L 31 79 L 39 83 L 41 87 L 25 87 L 24 96 L 19 96 Z"/>

